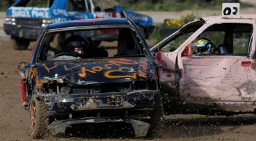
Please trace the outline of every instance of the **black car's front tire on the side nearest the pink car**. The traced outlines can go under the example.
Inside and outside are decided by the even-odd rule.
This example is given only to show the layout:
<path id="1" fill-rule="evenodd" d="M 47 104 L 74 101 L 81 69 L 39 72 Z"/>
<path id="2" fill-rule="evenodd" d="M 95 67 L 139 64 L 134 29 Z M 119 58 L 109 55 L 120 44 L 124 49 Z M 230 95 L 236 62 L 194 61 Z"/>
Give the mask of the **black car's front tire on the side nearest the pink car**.
<path id="1" fill-rule="evenodd" d="M 157 138 L 160 137 L 162 132 L 164 132 L 162 129 L 164 129 L 164 108 L 162 106 L 162 99 L 160 94 L 157 94 L 155 96 L 156 104 L 154 106 L 154 109 L 152 110 L 152 113 L 150 114 L 150 129 L 147 132 L 147 138 Z"/>

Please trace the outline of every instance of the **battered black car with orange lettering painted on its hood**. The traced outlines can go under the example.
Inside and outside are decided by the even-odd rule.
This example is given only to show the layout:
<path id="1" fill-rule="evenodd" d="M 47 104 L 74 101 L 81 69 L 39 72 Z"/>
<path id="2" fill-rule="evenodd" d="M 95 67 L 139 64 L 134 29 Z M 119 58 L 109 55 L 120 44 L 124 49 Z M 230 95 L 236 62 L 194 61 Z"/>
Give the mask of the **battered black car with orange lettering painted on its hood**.
<path id="1" fill-rule="evenodd" d="M 118 31 L 117 43 L 109 49 L 93 45 L 91 31 L 107 30 Z M 81 33 L 89 44 L 85 58 L 66 51 L 69 45 L 62 38 Z M 56 35 L 64 40 L 54 43 Z M 152 136 L 160 127 L 157 66 L 139 28 L 128 18 L 49 24 L 18 70 L 33 138 L 42 138 L 48 130 L 60 134 L 65 132 L 60 128 L 81 123 L 130 123 L 136 137 Z"/>

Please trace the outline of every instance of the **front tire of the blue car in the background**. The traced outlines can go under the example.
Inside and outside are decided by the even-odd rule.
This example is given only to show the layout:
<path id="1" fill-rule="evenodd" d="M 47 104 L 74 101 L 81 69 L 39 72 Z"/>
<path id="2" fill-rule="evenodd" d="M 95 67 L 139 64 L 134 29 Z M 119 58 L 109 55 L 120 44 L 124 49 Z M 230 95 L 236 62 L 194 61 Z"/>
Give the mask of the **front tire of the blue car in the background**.
<path id="1" fill-rule="evenodd" d="M 27 39 L 11 36 L 12 47 L 16 50 L 27 49 L 30 41 Z"/>

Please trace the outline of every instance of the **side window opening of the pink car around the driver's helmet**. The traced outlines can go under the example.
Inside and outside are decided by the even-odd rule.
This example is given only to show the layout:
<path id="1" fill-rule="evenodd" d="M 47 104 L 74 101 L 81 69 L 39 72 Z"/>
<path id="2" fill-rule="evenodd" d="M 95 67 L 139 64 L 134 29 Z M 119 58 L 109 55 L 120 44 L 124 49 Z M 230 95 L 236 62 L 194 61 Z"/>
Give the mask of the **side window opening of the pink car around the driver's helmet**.
<path id="1" fill-rule="evenodd" d="M 212 54 L 200 54 L 203 56 L 248 56 L 252 33 L 253 25 L 251 24 L 214 24 L 203 31 L 195 41 L 201 38 L 206 38 L 214 43 L 214 52 Z M 225 48 L 225 54 L 221 53 L 223 52 L 223 48 Z"/>

